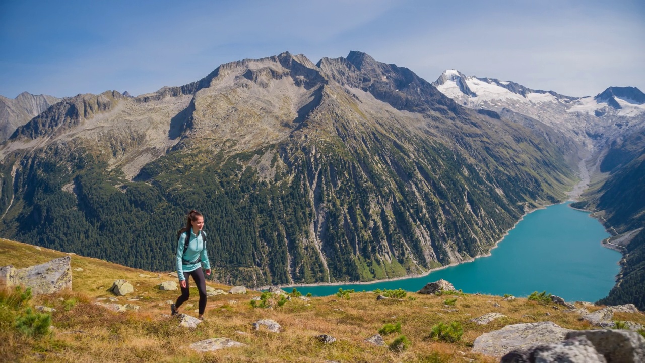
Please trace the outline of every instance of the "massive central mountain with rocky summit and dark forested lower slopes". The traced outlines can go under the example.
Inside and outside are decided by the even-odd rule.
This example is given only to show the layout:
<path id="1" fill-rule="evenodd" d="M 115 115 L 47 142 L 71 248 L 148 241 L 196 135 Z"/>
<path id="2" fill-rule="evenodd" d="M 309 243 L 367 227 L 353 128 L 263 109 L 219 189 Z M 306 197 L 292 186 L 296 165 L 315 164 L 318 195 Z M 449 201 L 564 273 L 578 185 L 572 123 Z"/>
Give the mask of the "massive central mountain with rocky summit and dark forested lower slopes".
<path id="1" fill-rule="evenodd" d="M 564 198 L 573 153 L 361 52 L 317 65 L 284 53 L 32 119 L 0 147 L 0 233 L 171 269 L 195 207 L 221 281 L 389 278 L 487 253 Z"/>

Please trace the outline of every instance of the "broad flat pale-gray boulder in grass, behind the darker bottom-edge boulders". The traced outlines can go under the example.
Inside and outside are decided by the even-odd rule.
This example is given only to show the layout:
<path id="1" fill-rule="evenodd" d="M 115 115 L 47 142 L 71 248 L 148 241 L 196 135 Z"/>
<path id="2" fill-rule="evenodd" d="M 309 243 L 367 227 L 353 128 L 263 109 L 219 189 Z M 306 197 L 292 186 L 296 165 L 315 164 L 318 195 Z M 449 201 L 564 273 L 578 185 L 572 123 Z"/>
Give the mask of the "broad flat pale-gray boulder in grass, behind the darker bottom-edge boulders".
<path id="1" fill-rule="evenodd" d="M 502 357 L 510 351 L 561 342 L 570 331 L 553 322 L 511 324 L 477 337 L 472 351 Z"/>

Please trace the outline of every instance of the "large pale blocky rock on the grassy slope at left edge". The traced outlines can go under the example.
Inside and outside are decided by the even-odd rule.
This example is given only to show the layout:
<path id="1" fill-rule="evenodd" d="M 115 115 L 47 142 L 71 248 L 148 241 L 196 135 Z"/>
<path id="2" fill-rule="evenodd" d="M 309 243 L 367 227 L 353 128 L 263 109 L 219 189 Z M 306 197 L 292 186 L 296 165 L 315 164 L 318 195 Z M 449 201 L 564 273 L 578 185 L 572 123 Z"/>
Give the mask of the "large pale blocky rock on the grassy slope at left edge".
<path id="1" fill-rule="evenodd" d="M 56 258 L 41 265 L 15 269 L 8 265 L 0 268 L 0 282 L 7 286 L 30 287 L 34 295 L 54 294 L 72 289 L 70 256 Z"/>

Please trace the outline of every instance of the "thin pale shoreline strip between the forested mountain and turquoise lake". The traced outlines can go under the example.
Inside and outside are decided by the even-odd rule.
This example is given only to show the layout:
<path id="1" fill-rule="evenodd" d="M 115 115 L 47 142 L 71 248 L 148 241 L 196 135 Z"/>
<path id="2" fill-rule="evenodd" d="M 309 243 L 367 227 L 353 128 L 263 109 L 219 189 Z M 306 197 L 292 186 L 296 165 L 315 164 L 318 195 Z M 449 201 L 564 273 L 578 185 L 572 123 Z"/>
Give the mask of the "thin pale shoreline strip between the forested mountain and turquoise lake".
<path id="1" fill-rule="evenodd" d="M 570 202 L 570 200 L 565 200 L 564 202 L 561 202 L 561 203 L 558 203 L 558 204 L 567 203 L 567 202 Z M 506 233 L 504 233 L 504 235 L 503 235 L 499 240 L 497 240 L 497 242 L 495 242 L 495 244 L 493 245 L 493 247 L 491 247 L 491 249 L 490 249 L 490 250 L 488 250 L 488 253 L 485 253 L 485 254 L 478 254 L 477 256 L 474 256 L 474 257 L 472 257 L 472 258 L 468 258 L 467 260 L 463 260 L 462 262 L 452 262 L 451 264 L 448 264 L 448 265 L 443 265 L 443 266 L 439 266 L 439 267 L 434 267 L 434 268 L 429 269 L 428 271 L 426 271 L 426 272 L 424 272 L 424 273 L 420 273 L 420 274 L 412 274 L 412 275 L 405 275 L 405 276 L 399 276 L 399 277 L 393 277 L 393 278 L 383 278 L 383 279 L 381 279 L 381 280 L 373 280 L 373 281 L 356 281 L 356 282 L 352 282 L 352 281 L 341 281 L 341 282 L 314 282 L 313 284 L 280 284 L 280 285 L 266 285 L 266 286 L 259 286 L 259 287 L 255 287 L 253 290 L 255 290 L 255 291 L 263 291 L 263 290 L 266 290 L 266 289 L 268 289 L 269 287 L 272 287 L 272 286 L 273 286 L 273 287 L 278 287 L 278 288 L 282 289 L 283 287 L 295 287 L 295 288 L 297 288 L 297 287 L 339 286 L 339 285 L 370 285 L 370 284 L 379 284 L 379 283 L 381 283 L 381 282 L 390 282 L 390 281 L 397 281 L 397 280 L 406 280 L 406 279 L 408 279 L 408 278 L 419 278 L 419 277 L 428 276 L 428 275 L 430 275 L 430 273 L 433 273 L 433 272 L 435 272 L 435 271 L 439 271 L 439 270 L 446 269 L 446 268 L 448 268 L 448 267 L 453 267 L 453 266 L 456 266 L 456 265 L 467 264 L 468 262 L 473 262 L 473 261 L 477 260 L 477 258 L 481 258 L 481 257 L 488 257 L 488 256 L 490 256 L 490 255 L 492 254 L 493 249 L 496 249 L 496 248 L 497 248 L 497 246 L 498 246 L 498 245 L 499 245 L 499 244 L 504 240 L 504 238 L 506 238 L 506 236 L 508 236 L 508 234 L 510 233 L 510 231 L 513 231 L 513 229 L 515 229 L 515 227 L 517 227 L 517 224 L 518 224 L 519 222 L 522 222 L 522 220 L 524 220 L 524 217 L 525 217 L 526 215 L 528 215 L 528 214 L 530 214 L 530 213 L 533 213 L 533 212 L 535 212 L 535 211 L 538 211 L 538 210 L 540 210 L 540 209 L 546 209 L 547 207 L 550 207 L 551 205 L 556 205 L 556 203 L 551 203 L 551 204 L 541 205 L 540 207 L 535 207 L 535 208 L 530 209 L 529 211 L 525 212 L 524 214 L 522 214 L 522 216 L 519 218 L 519 220 L 517 220 L 517 222 L 515 222 L 515 224 L 513 225 L 513 227 L 511 227 L 510 229 L 508 229 L 508 231 L 506 231 Z"/>

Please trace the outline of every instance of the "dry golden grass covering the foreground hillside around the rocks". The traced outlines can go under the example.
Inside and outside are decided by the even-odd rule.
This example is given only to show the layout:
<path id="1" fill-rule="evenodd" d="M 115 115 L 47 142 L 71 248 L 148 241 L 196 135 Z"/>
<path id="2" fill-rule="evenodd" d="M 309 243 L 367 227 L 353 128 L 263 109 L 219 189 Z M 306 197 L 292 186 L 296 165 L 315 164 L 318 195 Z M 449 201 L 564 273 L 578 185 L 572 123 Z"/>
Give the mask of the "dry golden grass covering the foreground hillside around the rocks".
<path id="1" fill-rule="evenodd" d="M 13 264 L 26 267 L 64 256 L 48 249 L 38 251 L 34 246 L 0 240 L 0 266 Z M 495 362 L 491 357 L 470 353 L 473 341 L 482 333 L 501 329 L 508 324 L 550 320 L 570 329 L 589 329 L 575 313 L 539 305 L 524 298 L 502 301 L 501 296 L 458 296 L 454 307 L 446 307 L 446 296 L 409 293 L 413 300 L 388 299 L 377 301 L 373 293 L 353 293 L 350 300 L 327 296 L 306 302 L 293 298 L 283 307 L 253 308 L 249 302 L 260 293 L 248 295 L 219 295 L 208 298 L 206 319 L 196 329 L 179 327 L 177 320 L 166 316 L 167 300 L 174 301 L 179 291 L 160 291 L 159 283 L 174 280 L 161 275 L 94 258 L 72 255 L 72 291 L 57 295 L 36 296 L 32 304 L 57 309 L 52 313 L 54 331 L 41 340 L 19 335 L 10 326 L 1 326 L 0 361 L 3 362 Z M 139 275 L 150 277 L 140 277 Z M 119 304 L 128 298 L 141 306 L 139 311 L 114 313 L 93 303 L 97 298 L 114 297 L 107 289 L 114 280 L 128 280 L 136 289 L 134 294 L 119 297 Z M 228 291 L 225 285 L 210 284 Z M 449 296 L 450 297 L 450 296 Z M 61 299 L 62 298 L 62 299 Z M 74 306 L 69 302 L 77 301 Z M 61 301 L 63 300 L 63 301 Z M 67 304 L 65 302 L 68 302 Z M 501 307 L 494 307 L 498 303 Z M 196 316 L 197 291 L 192 289 L 188 304 L 181 312 Z M 68 309 L 65 309 L 67 305 Z M 456 308 L 457 311 L 447 311 Z M 590 311 L 600 307 L 588 307 Z M 480 326 L 469 320 L 497 311 L 507 318 Z M 0 318 L 3 316 L 0 310 Z M 549 314 L 549 315 L 548 315 Z M 645 316 L 617 314 L 620 320 L 645 324 Z M 255 331 L 251 323 L 261 318 L 273 319 L 283 327 L 281 333 L 264 328 Z M 1 319 L 0 319 L 1 320 Z M 439 322 L 460 322 L 464 329 L 461 342 L 448 344 L 429 338 L 430 329 Z M 400 322 L 401 334 L 412 345 L 402 353 L 388 347 L 364 342 L 386 323 Z M 5 324 L 6 325 L 6 324 Z M 314 337 L 328 334 L 337 338 L 333 344 L 323 344 Z M 384 336 L 392 342 L 398 333 Z M 190 344 L 206 338 L 228 337 L 246 347 L 221 349 L 212 353 L 197 353 Z"/>

